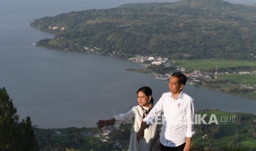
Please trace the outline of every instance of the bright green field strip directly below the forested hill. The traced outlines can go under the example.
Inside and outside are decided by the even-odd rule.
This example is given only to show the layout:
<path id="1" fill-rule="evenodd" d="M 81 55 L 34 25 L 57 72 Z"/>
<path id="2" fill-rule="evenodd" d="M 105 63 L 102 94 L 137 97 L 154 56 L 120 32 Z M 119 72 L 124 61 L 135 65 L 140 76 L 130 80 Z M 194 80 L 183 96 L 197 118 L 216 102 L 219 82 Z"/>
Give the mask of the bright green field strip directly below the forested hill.
<path id="1" fill-rule="evenodd" d="M 255 67 L 256 61 L 247 60 L 224 60 L 224 59 L 195 59 L 195 60 L 171 60 L 177 62 L 179 67 L 186 68 L 189 71 L 193 70 L 204 70 L 217 68 L 228 68 L 228 67 L 241 67 L 249 66 Z"/>

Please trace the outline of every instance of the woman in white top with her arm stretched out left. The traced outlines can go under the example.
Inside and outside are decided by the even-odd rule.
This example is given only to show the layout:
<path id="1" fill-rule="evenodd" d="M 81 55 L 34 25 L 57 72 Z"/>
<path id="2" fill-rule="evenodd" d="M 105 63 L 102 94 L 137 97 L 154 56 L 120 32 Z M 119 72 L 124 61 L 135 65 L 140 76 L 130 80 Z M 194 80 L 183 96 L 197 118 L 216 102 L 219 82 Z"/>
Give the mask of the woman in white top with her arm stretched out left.
<path id="1" fill-rule="evenodd" d="M 141 121 L 148 115 L 152 109 L 154 99 L 152 98 L 152 90 L 148 86 L 143 86 L 137 91 L 137 100 L 139 105 L 134 106 L 129 112 L 125 114 L 115 115 L 113 119 L 99 120 L 98 127 L 105 127 L 106 125 L 115 125 L 117 128 L 121 124 L 127 124 L 132 121 L 132 132 L 130 133 L 129 151 L 141 150 L 157 150 L 159 146 L 159 131 L 162 125 L 153 124 L 145 129 L 144 139 L 138 143 L 136 136 L 140 129 Z"/>

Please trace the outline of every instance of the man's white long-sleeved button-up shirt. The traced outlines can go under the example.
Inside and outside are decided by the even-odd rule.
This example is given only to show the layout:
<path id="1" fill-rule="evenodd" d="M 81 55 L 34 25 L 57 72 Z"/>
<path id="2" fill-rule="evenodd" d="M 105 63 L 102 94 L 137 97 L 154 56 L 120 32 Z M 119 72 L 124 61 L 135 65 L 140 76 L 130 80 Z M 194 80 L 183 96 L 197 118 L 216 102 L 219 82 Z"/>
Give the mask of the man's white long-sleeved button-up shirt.
<path id="1" fill-rule="evenodd" d="M 171 92 L 162 94 L 144 121 L 151 125 L 164 113 L 160 142 L 164 146 L 176 147 L 194 135 L 194 100 L 183 91 L 176 99 Z"/>

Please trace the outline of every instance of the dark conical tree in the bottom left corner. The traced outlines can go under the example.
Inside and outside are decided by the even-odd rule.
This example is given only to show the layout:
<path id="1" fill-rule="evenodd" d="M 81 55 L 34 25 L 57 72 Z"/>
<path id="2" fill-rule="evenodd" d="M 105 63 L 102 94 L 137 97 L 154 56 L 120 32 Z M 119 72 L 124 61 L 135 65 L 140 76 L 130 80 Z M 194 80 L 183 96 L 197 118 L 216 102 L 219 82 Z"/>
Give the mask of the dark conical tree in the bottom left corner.
<path id="1" fill-rule="evenodd" d="M 30 118 L 19 123 L 17 109 L 5 88 L 0 88 L 0 150 L 37 150 Z"/>

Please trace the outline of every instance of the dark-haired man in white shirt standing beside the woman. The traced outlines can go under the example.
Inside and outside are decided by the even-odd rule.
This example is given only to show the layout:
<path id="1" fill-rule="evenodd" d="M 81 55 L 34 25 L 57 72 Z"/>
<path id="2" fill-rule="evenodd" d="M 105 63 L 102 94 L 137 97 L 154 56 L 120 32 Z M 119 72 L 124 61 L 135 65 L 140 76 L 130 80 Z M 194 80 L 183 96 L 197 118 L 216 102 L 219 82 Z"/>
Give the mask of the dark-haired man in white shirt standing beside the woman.
<path id="1" fill-rule="evenodd" d="M 143 120 L 137 133 L 137 141 L 144 137 L 146 127 L 157 121 L 160 113 L 164 112 L 164 123 L 160 135 L 160 151 L 188 151 L 192 135 L 194 135 L 194 100 L 182 89 L 187 77 L 181 72 L 173 73 L 168 86 L 170 92 L 162 94 L 160 100 Z"/>

